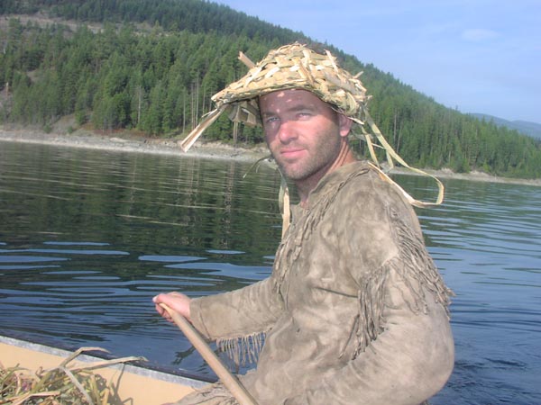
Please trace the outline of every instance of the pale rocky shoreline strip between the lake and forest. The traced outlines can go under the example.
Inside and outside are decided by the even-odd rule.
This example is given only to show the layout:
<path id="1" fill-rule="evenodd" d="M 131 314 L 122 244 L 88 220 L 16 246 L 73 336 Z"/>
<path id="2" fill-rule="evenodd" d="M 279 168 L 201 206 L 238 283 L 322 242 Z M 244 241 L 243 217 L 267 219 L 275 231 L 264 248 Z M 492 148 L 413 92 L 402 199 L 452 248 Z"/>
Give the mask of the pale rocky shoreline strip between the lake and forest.
<path id="1" fill-rule="evenodd" d="M 185 152 L 179 146 L 178 139 L 158 139 L 137 136 L 129 132 L 113 135 L 99 134 L 89 130 L 77 130 L 71 134 L 44 133 L 39 130 L 0 128 L 0 141 L 14 141 L 43 145 L 66 146 L 72 148 L 93 148 L 134 153 L 153 153 L 161 155 L 182 155 Z M 188 155 L 216 159 L 235 159 L 256 161 L 268 156 L 265 146 L 252 148 L 234 147 L 219 142 L 199 140 L 189 150 Z M 187 156 L 188 156 L 187 155 Z M 527 184 L 541 186 L 541 179 L 515 179 L 487 175 L 481 172 L 468 174 L 454 173 L 449 169 L 428 170 L 427 173 L 440 178 L 454 178 L 492 183 Z M 393 173 L 411 173 L 403 168 L 393 169 Z"/>

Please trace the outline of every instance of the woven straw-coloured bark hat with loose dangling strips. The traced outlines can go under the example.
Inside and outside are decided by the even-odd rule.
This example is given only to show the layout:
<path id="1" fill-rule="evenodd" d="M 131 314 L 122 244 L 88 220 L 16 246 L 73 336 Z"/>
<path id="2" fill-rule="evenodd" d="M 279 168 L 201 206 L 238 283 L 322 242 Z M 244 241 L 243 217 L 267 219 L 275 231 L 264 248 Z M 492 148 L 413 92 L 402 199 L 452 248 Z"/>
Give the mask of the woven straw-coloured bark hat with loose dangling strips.
<path id="1" fill-rule="evenodd" d="M 395 184 L 388 175 L 380 170 L 380 163 L 374 148 L 383 148 L 390 168 L 394 161 L 408 169 L 428 175 L 426 172 L 408 164 L 399 157 L 390 146 L 367 110 L 370 98 L 357 74 L 353 76 L 339 67 L 336 58 L 326 50 L 320 54 L 298 42 L 272 49 L 261 62 L 254 64 L 250 58 L 240 52 L 239 59 L 249 67 L 248 73 L 241 79 L 214 94 L 212 101 L 215 110 L 208 112 L 203 120 L 182 140 L 180 148 L 188 151 L 221 114 L 226 112 L 231 121 L 247 125 L 261 124 L 258 97 L 278 90 L 303 89 L 316 94 L 329 103 L 337 112 L 343 113 L 357 123 L 362 132 L 362 139 L 368 145 L 371 160 L 386 181 Z M 444 198 L 444 186 L 436 179 L 439 193 L 436 202 L 420 202 L 402 190 L 408 201 L 415 206 L 440 204 Z M 396 184 L 398 186 L 398 184 Z"/>

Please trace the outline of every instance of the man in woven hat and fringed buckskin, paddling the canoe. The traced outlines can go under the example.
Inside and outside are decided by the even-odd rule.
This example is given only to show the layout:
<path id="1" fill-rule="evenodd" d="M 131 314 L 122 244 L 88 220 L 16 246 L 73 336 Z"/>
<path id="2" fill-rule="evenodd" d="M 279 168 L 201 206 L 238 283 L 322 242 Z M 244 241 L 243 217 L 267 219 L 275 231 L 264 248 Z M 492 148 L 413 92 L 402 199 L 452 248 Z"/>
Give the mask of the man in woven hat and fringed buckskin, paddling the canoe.
<path id="1" fill-rule="evenodd" d="M 300 202 L 271 277 L 197 299 L 163 293 L 157 311 L 169 319 L 167 304 L 237 357 L 263 335 L 257 368 L 241 376 L 261 405 L 426 401 L 454 365 L 450 291 L 403 191 L 349 147 L 353 125 L 368 117 L 359 80 L 296 43 L 215 101 L 218 112 L 261 119 Z M 216 384 L 179 403 L 235 401 Z"/>

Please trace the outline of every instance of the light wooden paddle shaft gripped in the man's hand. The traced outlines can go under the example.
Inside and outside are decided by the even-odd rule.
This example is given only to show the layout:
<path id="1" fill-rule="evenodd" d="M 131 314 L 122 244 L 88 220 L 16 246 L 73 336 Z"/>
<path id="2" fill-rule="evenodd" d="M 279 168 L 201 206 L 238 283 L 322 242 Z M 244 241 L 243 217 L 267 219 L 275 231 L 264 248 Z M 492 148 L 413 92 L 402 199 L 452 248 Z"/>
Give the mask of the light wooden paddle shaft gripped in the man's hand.
<path id="1" fill-rule="evenodd" d="M 227 370 L 220 358 L 215 355 L 215 352 L 206 344 L 204 338 L 201 337 L 199 332 L 178 312 L 173 311 L 164 303 L 160 303 L 160 306 L 168 311 L 171 319 L 182 330 L 182 333 L 186 335 L 191 344 L 197 349 L 199 354 L 205 359 L 206 363 L 213 369 L 220 381 L 224 383 L 225 388 L 231 392 L 236 401 L 240 405 L 257 405 L 257 402 L 252 398 L 250 392 L 247 392 L 241 382 Z"/>

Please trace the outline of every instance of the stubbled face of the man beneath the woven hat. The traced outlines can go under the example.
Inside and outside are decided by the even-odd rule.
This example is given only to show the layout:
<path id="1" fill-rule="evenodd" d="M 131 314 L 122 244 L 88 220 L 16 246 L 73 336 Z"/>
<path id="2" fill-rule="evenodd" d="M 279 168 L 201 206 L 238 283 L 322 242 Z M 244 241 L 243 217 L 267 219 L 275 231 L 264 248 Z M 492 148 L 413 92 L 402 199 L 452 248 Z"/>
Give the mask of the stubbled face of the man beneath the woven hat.
<path id="1" fill-rule="evenodd" d="M 348 118 L 307 90 L 261 95 L 260 111 L 272 156 L 297 183 L 319 181 L 335 164 L 351 129 Z"/>

